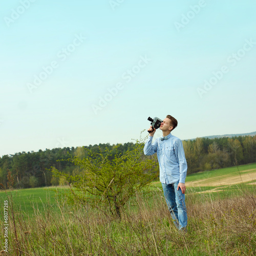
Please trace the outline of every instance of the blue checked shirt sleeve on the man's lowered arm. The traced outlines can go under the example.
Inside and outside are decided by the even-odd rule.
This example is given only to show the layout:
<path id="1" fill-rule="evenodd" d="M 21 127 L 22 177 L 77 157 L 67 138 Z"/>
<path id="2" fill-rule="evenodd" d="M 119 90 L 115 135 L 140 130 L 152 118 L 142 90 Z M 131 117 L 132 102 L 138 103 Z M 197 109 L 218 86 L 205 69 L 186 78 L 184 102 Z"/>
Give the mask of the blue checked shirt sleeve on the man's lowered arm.
<path id="1" fill-rule="evenodd" d="M 179 169 L 180 169 L 180 183 L 185 183 L 185 179 L 187 176 L 187 161 L 185 158 L 185 152 L 183 148 L 182 141 L 179 139 L 175 142 L 175 154 L 176 159 L 179 163 Z"/>

